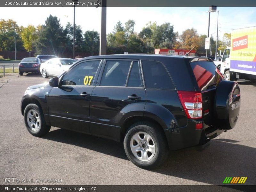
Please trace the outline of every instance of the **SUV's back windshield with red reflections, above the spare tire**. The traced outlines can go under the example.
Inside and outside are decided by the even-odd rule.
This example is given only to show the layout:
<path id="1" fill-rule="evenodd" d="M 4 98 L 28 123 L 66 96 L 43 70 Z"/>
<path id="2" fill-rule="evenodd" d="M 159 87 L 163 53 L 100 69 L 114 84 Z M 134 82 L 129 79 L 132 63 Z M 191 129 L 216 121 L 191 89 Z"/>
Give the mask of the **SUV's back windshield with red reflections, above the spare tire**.
<path id="1" fill-rule="evenodd" d="M 212 88 L 213 85 L 218 86 L 223 77 L 214 63 L 209 61 L 189 62 L 196 77 L 196 82 L 201 91 Z"/>

